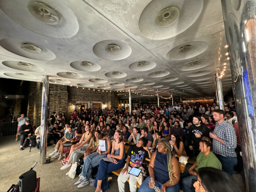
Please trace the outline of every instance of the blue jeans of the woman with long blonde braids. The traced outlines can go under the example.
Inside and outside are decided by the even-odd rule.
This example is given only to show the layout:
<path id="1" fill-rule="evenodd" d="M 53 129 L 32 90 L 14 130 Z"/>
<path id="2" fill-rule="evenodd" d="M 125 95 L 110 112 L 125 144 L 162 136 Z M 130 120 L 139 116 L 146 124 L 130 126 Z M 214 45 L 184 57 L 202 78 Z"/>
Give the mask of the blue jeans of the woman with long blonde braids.
<path id="1" fill-rule="evenodd" d="M 150 176 L 148 176 L 143 183 L 141 184 L 141 186 L 139 187 L 139 192 L 155 192 L 155 189 L 151 189 L 149 187 L 149 178 Z M 164 183 L 160 183 L 158 181 L 155 181 L 155 187 L 159 187 L 162 190 L 162 185 Z M 175 186 L 172 187 L 168 187 L 166 188 L 166 192 L 180 192 L 180 186 L 179 184 L 176 184 Z"/>

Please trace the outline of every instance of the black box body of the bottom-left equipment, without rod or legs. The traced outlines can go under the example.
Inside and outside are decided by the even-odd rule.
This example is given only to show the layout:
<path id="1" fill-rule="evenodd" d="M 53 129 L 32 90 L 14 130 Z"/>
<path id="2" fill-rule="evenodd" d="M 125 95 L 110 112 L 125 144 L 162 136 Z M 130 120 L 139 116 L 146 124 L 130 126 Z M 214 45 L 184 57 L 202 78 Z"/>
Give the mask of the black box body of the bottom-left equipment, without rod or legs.
<path id="1" fill-rule="evenodd" d="M 32 192 L 37 188 L 37 172 L 29 170 L 19 176 L 20 192 Z"/>

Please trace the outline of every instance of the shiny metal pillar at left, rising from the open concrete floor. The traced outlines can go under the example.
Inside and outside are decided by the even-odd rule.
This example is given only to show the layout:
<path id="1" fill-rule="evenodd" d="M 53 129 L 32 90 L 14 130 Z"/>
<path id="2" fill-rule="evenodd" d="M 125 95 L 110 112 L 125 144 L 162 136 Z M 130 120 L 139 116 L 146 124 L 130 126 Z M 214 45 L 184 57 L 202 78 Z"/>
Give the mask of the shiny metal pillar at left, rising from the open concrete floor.
<path id="1" fill-rule="evenodd" d="M 42 111 L 41 111 L 41 133 L 40 133 L 40 159 L 42 165 L 46 157 L 47 129 L 48 129 L 48 99 L 49 99 L 49 76 L 43 76 Z"/>

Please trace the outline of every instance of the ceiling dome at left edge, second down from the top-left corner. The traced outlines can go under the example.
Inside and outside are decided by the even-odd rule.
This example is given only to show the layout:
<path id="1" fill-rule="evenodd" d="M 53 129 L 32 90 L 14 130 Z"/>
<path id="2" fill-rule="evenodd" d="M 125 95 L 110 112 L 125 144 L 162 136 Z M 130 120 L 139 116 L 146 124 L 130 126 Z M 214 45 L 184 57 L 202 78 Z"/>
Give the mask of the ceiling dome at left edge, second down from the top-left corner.
<path id="1" fill-rule="evenodd" d="M 48 48 L 29 41 L 4 38 L 0 40 L 0 46 L 7 51 L 29 59 L 50 61 L 55 59 L 55 54 Z"/>

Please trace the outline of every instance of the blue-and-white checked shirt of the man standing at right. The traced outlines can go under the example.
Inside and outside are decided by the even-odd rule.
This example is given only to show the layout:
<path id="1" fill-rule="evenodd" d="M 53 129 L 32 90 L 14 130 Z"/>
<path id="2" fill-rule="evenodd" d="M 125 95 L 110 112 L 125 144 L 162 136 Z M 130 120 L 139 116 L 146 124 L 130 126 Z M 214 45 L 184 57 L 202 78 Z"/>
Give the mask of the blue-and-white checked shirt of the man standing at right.
<path id="1" fill-rule="evenodd" d="M 216 133 L 220 139 L 223 139 L 225 144 L 222 144 L 216 139 L 213 139 L 213 153 L 227 157 L 236 157 L 235 128 L 224 121 L 220 124 L 216 123 L 214 133 Z"/>

